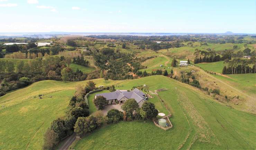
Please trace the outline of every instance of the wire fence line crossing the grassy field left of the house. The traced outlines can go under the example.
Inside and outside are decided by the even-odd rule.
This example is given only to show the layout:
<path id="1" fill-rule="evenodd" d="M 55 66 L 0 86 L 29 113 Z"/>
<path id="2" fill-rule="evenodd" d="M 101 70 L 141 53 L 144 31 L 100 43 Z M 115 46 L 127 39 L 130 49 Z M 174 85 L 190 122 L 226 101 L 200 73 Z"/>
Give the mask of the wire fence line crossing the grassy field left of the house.
<path id="1" fill-rule="evenodd" d="M 55 90 L 55 91 L 43 93 L 43 94 L 42 94 L 42 97 L 44 97 L 44 96 L 46 96 L 46 95 L 48 95 L 48 94 L 54 93 L 54 92 L 59 92 L 59 91 L 64 91 L 64 90 L 63 90 L 63 89 L 58 89 L 58 90 Z M 17 106 L 19 106 L 19 105 L 21 105 L 21 104 L 24 104 L 25 102 L 28 102 L 28 101 L 31 100 L 31 99 L 35 99 L 37 96 L 38 96 L 38 95 L 36 95 L 36 96 L 30 96 L 30 97 L 28 97 L 27 99 L 22 100 L 22 101 L 19 102 L 19 103 L 14 103 L 14 104 L 12 104 L 12 105 L 10 105 L 10 106 L 4 106 L 4 109 L 1 109 L 1 110 L 0 110 L 0 114 L 3 113 L 3 112 L 5 112 L 5 111 L 8 111 L 8 110 L 10 110 L 10 109 L 13 109 L 13 108 L 15 108 L 15 107 L 17 107 Z M 66 97 L 66 96 L 58 96 L 58 97 Z"/>

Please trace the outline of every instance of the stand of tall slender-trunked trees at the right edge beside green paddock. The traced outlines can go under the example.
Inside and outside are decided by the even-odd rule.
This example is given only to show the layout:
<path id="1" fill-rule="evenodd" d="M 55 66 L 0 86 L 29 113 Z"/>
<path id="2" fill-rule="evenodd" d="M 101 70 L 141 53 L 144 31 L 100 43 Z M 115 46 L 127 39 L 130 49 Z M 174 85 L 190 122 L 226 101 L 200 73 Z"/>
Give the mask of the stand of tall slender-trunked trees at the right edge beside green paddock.
<path id="1" fill-rule="evenodd" d="M 234 58 L 231 60 L 226 59 L 225 62 L 227 66 L 222 69 L 222 74 L 246 74 L 246 73 L 256 73 L 256 60 L 255 57 L 251 59 L 244 58 Z M 249 64 L 253 64 L 252 67 Z"/>

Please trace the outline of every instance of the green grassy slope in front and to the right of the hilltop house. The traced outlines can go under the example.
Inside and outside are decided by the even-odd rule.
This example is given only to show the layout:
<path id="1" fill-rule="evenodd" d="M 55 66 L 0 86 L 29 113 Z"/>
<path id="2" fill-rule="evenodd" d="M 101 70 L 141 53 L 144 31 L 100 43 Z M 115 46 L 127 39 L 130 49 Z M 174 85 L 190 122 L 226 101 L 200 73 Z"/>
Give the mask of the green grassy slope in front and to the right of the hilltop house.
<path id="1" fill-rule="evenodd" d="M 151 91 L 168 89 L 159 92 L 159 96 L 173 114 L 172 129 L 164 132 L 152 122 L 121 122 L 88 135 L 75 149 L 177 149 L 183 142 L 184 149 L 255 148 L 255 115 L 230 109 L 189 85 L 163 76 L 135 79 L 120 85 L 129 89 L 143 84 Z"/>

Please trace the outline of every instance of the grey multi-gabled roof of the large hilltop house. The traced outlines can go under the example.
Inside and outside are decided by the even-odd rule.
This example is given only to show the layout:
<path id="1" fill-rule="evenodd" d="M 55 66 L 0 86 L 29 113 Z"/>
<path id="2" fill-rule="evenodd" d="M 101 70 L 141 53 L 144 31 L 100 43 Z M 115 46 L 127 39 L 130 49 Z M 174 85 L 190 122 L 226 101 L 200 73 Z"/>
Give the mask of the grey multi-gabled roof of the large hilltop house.
<path id="1" fill-rule="evenodd" d="M 121 100 L 123 97 L 126 97 L 127 99 L 135 99 L 137 103 L 139 103 L 141 100 L 145 100 L 145 94 L 135 88 L 134 90 L 128 92 L 124 90 L 116 90 L 115 92 L 111 93 L 101 93 L 101 94 L 96 94 L 97 96 L 103 96 L 107 100 L 115 100 L 117 99 L 118 101 Z"/>

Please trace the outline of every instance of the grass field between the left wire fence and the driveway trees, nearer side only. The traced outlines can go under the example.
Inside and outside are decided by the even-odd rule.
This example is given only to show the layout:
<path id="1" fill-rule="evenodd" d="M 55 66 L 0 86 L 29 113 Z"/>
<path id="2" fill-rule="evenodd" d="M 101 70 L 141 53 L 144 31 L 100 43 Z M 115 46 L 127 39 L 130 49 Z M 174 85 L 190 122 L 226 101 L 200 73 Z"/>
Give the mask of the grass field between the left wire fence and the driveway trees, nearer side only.
<path id="1" fill-rule="evenodd" d="M 0 113 L 0 149 L 42 149 L 46 129 L 64 115 L 74 92 L 73 89 L 44 94 L 43 99 L 32 98 Z"/>

